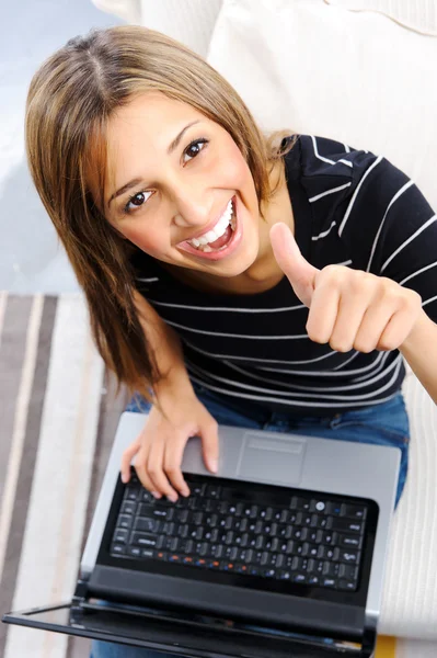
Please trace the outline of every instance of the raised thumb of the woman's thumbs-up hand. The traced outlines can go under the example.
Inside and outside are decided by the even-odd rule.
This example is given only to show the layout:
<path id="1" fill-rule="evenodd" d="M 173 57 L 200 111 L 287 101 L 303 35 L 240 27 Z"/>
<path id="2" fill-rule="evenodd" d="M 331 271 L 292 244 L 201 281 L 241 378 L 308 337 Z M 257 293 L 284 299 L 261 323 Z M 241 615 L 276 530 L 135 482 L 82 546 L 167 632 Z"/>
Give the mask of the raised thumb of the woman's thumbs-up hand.
<path id="1" fill-rule="evenodd" d="M 310 308 L 314 281 L 320 272 L 303 258 L 289 227 L 279 222 L 271 228 L 271 243 L 275 259 L 290 282 L 297 297 Z"/>

